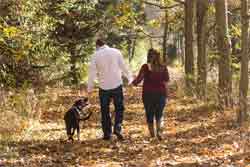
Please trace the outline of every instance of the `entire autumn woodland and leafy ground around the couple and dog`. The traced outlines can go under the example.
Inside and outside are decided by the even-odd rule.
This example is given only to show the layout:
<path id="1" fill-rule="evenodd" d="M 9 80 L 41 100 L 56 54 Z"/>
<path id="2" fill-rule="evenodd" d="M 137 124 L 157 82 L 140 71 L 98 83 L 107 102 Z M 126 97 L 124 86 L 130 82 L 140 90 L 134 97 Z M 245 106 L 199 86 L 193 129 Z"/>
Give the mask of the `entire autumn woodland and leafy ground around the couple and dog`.
<path id="1" fill-rule="evenodd" d="M 0 0 L 0 166 L 247 166 L 248 0 Z M 136 74 L 157 48 L 170 71 L 166 140 L 147 138 L 141 88 L 125 90 L 127 140 L 94 116 L 65 143 L 98 36 Z M 84 133 L 83 133 L 84 131 Z"/>

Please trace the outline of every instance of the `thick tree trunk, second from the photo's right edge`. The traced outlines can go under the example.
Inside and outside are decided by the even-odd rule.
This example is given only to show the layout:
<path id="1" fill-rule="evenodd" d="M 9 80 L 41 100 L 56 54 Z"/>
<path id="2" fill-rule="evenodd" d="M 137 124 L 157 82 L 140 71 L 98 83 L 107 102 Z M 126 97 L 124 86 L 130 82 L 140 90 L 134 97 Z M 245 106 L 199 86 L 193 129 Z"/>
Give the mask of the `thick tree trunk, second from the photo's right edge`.
<path id="1" fill-rule="evenodd" d="M 229 106 L 232 92 L 230 40 L 228 32 L 227 0 L 215 0 L 217 47 L 219 50 L 219 99 Z"/>

